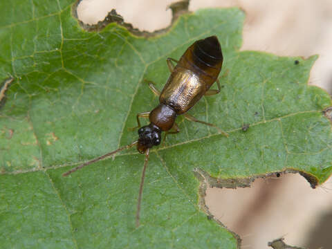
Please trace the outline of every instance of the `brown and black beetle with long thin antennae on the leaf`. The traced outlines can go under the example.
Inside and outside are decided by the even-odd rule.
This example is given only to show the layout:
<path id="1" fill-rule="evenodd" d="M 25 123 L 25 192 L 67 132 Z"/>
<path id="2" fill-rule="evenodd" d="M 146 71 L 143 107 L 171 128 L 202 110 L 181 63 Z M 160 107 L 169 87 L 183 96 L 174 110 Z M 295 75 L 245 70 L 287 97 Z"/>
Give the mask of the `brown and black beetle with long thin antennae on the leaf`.
<path id="1" fill-rule="evenodd" d="M 176 66 L 172 62 L 176 62 Z M 140 225 L 140 203 L 142 200 L 142 189 L 144 185 L 145 169 L 149 160 L 149 150 L 151 147 L 160 145 L 161 132 L 178 133 L 180 129 L 175 122 L 176 117 L 182 115 L 190 121 L 201 122 L 211 127 L 218 129 L 224 136 L 228 133 L 221 131 L 214 124 L 197 120 L 190 114 L 186 113 L 190 108 L 199 101 L 203 95 L 214 95 L 220 92 L 220 83 L 218 80 L 221 66 L 223 64 L 223 53 L 221 46 L 216 36 L 200 39 L 192 44 L 179 61 L 172 58 L 167 58 L 167 66 L 171 75 L 169 76 L 163 91 L 161 93 L 156 89 L 152 82 L 149 83 L 149 88 L 154 94 L 159 96 L 160 104 L 152 111 L 138 113 L 138 140 L 132 142 L 130 145 L 120 147 L 115 151 L 111 151 L 103 156 L 89 160 L 82 165 L 79 165 L 62 176 L 68 176 L 78 169 L 102 160 L 113 154 L 129 149 L 134 145 L 140 154 L 145 154 L 144 167 L 142 169 L 142 178 L 140 182 L 140 190 L 138 194 L 138 203 L 136 211 L 136 226 Z M 210 89 L 212 84 L 216 82 L 218 90 Z M 139 118 L 149 118 L 150 124 L 141 127 Z"/>

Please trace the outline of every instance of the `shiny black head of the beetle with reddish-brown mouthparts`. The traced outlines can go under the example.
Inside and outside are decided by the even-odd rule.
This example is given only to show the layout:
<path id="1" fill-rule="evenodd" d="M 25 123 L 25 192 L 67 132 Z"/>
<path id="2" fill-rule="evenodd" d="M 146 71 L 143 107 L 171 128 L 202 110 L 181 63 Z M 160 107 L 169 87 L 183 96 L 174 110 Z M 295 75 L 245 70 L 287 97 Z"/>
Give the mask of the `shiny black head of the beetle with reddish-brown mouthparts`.
<path id="1" fill-rule="evenodd" d="M 140 136 L 140 138 L 138 138 L 137 150 L 141 154 L 145 153 L 147 148 L 160 145 L 161 130 L 153 123 L 140 127 L 140 129 L 138 129 L 138 136 Z"/>

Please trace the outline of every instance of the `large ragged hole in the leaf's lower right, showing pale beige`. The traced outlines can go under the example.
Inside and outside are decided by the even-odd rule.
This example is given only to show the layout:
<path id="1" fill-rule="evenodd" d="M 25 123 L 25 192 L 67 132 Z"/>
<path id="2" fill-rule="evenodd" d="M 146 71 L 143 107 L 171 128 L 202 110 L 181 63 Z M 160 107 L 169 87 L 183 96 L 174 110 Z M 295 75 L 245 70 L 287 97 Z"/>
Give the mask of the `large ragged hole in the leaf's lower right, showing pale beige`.
<path id="1" fill-rule="evenodd" d="M 306 248 L 308 232 L 317 225 L 322 212 L 331 210 L 329 187 L 332 179 L 313 189 L 299 174 L 277 173 L 257 178 L 252 187 L 210 187 L 205 205 L 214 219 L 239 234 L 243 248 L 267 248 L 268 241 L 279 237 L 285 237 L 290 245 Z"/>

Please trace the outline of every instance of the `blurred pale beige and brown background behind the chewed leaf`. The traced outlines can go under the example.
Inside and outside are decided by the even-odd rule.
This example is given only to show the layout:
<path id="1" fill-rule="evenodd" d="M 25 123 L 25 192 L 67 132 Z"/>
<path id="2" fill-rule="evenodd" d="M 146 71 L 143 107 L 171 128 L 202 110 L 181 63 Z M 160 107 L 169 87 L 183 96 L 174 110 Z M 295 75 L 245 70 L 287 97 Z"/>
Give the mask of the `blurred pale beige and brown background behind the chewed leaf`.
<path id="1" fill-rule="evenodd" d="M 79 18 L 95 24 L 116 8 L 124 21 L 140 30 L 165 28 L 172 19 L 167 6 L 174 1 L 83 0 Z M 277 55 L 318 54 L 309 84 L 332 93 L 331 0 L 192 0 L 190 10 L 239 6 L 246 12 L 241 50 Z M 268 241 L 306 248 L 332 248 L 332 181 L 311 189 L 298 174 L 259 179 L 238 190 L 209 189 L 210 211 L 243 239 L 242 248 L 268 248 Z"/>

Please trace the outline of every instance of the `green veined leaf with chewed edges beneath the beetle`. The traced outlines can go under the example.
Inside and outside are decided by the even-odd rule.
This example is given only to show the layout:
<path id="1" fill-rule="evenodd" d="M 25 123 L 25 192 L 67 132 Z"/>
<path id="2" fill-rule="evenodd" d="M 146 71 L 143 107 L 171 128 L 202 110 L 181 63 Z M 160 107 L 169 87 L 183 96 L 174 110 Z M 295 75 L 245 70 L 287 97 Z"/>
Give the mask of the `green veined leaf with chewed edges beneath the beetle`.
<path id="1" fill-rule="evenodd" d="M 203 212 L 194 170 L 227 179 L 293 169 L 312 185 L 331 174 L 331 123 L 322 113 L 331 99 L 307 85 L 317 56 L 240 52 L 236 8 L 183 15 L 165 34 L 142 38 L 118 24 L 88 33 L 71 7 L 1 3 L 0 79 L 15 78 L 0 107 L 3 248 L 237 248 L 236 235 Z M 230 137 L 178 117 L 181 133 L 151 151 L 136 228 L 144 156 L 135 149 L 62 173 L 136 140 L 128 129 L 136 113 L 158 103 L 143 80 L 162 89 L 166 58 L 210 35 L 223 48 L 222 92 L 190 113 Z"/>

